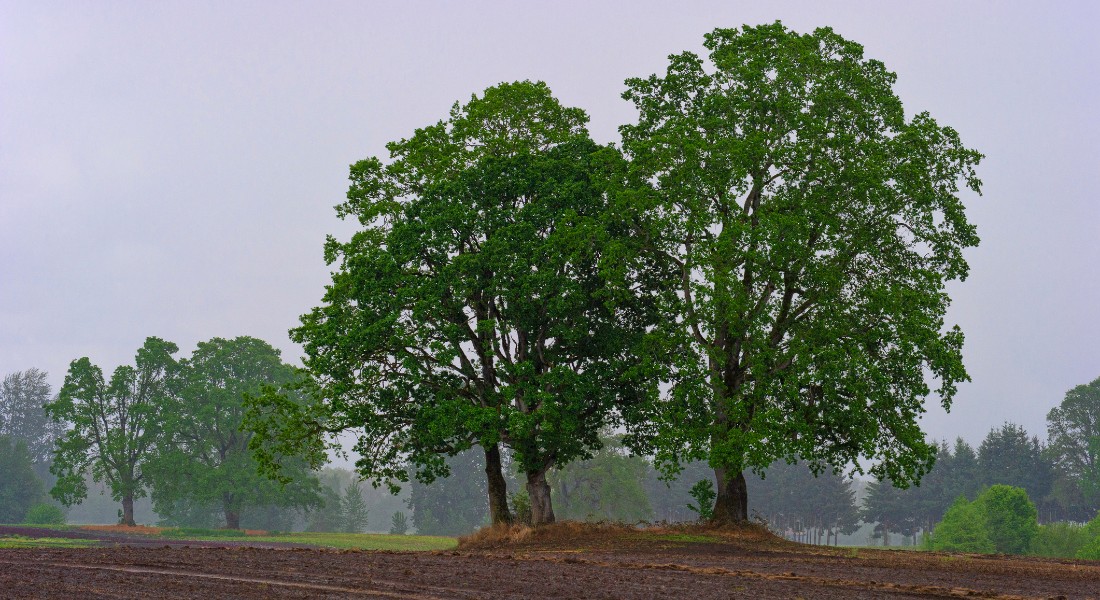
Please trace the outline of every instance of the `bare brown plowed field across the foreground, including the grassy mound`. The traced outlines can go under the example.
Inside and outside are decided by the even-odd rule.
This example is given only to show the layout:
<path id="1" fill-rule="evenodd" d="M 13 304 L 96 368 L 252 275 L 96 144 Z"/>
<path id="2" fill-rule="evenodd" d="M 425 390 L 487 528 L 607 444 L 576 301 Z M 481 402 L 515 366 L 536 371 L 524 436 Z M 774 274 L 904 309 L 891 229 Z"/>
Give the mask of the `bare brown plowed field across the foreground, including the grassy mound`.
<path id="1" fill-rule="evenodd" d="M 0 550 L 0 598 L 1100 598 L 1100 563 L 822 548 L 758 530 L 563 525 L 458 552 Z"/>

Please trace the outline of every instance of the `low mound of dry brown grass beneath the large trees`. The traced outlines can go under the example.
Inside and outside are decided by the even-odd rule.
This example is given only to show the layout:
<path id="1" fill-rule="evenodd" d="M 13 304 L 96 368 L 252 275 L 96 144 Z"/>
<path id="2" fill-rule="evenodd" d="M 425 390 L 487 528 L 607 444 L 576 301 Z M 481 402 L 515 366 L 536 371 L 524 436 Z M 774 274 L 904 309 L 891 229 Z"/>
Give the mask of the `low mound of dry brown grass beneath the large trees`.
<path id="1" fill-rule="evenodd" d="M 751 549 L 802 547 L 756 524 L 715 526 L 697 523 L 627 525 L 623 523 L 579 523 L 563 521 L 530 527 L 493 525 L 459 538 L 459 549 L 524 550 L 668 548 L 670 545 L 705 544 Z"/>

